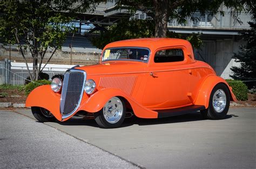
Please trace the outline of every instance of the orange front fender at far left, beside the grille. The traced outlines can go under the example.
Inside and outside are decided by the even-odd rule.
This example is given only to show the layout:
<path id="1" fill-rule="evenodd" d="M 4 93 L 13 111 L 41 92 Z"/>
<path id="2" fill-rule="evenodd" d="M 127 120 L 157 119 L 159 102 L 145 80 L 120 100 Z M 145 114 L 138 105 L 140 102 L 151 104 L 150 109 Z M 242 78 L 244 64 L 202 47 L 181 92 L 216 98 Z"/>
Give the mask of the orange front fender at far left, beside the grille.
<path id="1" fill-rule="evenodd" d="M 32 90 L 26 98 L 26 107 L 43 107 L 49 110 L 58 120 L 62 120 L 60 114 L 60 94 L 51 90 L 51 85 L 42 85 Z"/>

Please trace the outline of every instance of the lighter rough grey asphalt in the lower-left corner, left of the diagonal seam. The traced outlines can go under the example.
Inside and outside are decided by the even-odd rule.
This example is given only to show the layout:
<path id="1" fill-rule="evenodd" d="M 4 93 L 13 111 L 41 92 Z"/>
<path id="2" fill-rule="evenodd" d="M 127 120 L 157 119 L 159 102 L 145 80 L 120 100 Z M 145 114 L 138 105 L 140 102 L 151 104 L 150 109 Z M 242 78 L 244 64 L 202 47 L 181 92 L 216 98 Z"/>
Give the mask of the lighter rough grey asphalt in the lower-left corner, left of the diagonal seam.
<path id="1" fill-rule="evenodd" d="M 21 114 L 0 110 L 0 168 L 138 168 Z"/>

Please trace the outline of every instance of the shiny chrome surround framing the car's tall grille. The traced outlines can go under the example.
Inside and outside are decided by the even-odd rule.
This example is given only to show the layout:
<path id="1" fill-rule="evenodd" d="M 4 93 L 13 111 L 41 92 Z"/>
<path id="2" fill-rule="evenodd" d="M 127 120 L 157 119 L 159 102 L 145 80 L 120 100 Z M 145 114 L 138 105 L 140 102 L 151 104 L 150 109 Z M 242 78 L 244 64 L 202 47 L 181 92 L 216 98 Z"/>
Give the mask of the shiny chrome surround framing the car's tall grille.
<path id="1" fill-rule="evenodd" d="M 65 84 L 69 82 L 69 75 L 70 75 L 70 72 L 79 72 L 79 73 L 83 73 L 83 74 L 84 74 L 84 80 L 83 80 L 82 91 L 81 91 L 81 93 L 80 93 L 80 98 L 79 98 L 78 104 L 77 104 L 75 110 L 73 110 L 73 111 L 72 111 L 71 113 L 69 113 L 68 115 L 63 115 L 63 109 L 64 109 L 64 106 L 65 106 L 65 99 L 66 99 L 66 90 L 68 89 L 67 87 L 65 87 L 65 89 L 64 89 L 64 87 L 63 87 L 63 90 L 65 90 L 65 96 L 64 96 L 64 94 L 61 95 L 61 97 L 60 97 L 60 107 L 59 107 L 59 108 L 60 108 L 60 113 L 62 114 L 62 121 L 63 121 L 64 119 L 66 119 L 66 118 L 69 118 L 69 117 L 73 116 L 73 114 L 76 113 L 77 109 L 78 109 L 79 106 L 80 106 L 80 103 L 81 103 L 81 101 L 82 101 L 83 94 L 84 94 L 84 84 L 85 84 L 85 81 L 86 81 L 86 72 L 83 71 L 83 70 L 73 69 L 73 68 L 70 69 L 70 70 L 68 70 L 68 71 L 66 72 L 67 75 L 65 74 L 65 76 L 68 76 L 68 78 L 64 78 L 63 86 L 65 86 Z M 63 93 L 63 91 L 62 91 L 62 93 Z M 62 100 L 64 100 L 64 102 L 63 102 Z"/>

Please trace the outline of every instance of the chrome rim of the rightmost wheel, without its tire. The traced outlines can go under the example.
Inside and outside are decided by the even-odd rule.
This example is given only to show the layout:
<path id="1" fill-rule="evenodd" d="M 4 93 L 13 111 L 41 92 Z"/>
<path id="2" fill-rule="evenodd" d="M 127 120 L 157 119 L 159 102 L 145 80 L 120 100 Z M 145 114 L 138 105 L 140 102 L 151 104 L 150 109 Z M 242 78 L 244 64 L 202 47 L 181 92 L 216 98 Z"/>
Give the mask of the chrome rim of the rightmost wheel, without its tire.
<path id="1" fill-rule="evenodd" d="M 226 107 L 226 101 L 227 101 L 227 98 L 224 90 L 222 89 L 216 90 L 215 93 L 213 94 L 213 99 L 212 99 L 213 109 L 218 113 L 223 112 L 223 110 Z"/>

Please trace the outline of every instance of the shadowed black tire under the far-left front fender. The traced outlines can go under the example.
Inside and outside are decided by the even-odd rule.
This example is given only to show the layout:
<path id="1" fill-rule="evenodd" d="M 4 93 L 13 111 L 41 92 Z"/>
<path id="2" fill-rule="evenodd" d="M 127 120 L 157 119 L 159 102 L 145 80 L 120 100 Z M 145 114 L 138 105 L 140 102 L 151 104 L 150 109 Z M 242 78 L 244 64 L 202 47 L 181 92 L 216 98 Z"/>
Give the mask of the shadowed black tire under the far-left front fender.
<path id="1" fill-rule="evenodd" d="M 52 113 L 43 107 L 31 107 L 31 111 L 33 116 L 41 123 L 56 120 Z"/>

